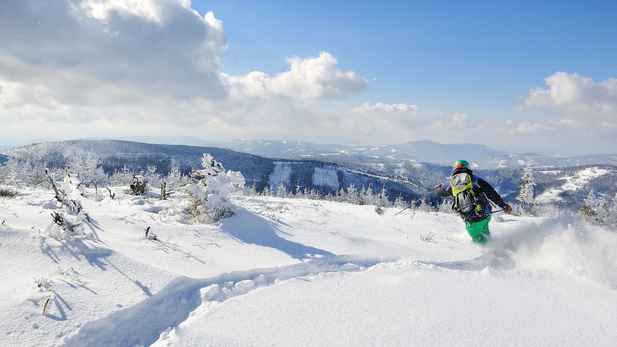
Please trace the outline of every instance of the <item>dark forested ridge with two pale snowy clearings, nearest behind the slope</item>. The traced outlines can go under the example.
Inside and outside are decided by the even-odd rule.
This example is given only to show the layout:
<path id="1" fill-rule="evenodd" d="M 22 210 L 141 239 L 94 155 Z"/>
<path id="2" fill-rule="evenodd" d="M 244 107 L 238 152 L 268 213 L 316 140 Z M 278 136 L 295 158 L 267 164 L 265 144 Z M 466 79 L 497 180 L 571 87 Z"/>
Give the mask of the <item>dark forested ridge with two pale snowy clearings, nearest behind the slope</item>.
<path id="1" fill-rule="evenodd" d="M 247 186 L 255 186 L 258 192 L 265 188 L 277 189 L 283 183 L 287 192 L 302 186 L 302 189 L 314 189 L 322 195 L 334 194 L 352 184 L 358 190 L 369 186 L 376 191 L 385 188 L 392 199 L 400 195 L 412 200 L 426 194 L 426 189 L 414 182 L 383 178 L 325 161 L 267 158 L 220 147 L 73 140 L 37 144 L 5 153 L 22 161 L 64 167 L 83 160 L 90 152 L 96 154 L 97 164 L 107 174 L 125 166 L 135 173 L 154 166 L 160 174 L 167 174 L 172 168 L 188 174 L 193 168 L 201 168 L 203 153 L 210 153 L 225 169 L 241 171 Z"/>

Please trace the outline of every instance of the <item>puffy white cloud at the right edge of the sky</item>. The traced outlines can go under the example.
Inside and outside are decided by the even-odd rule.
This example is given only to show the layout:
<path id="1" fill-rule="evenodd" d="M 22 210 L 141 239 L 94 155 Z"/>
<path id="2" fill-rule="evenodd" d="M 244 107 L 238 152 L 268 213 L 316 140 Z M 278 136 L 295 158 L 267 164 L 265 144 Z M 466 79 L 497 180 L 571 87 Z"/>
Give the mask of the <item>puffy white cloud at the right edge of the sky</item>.
<path id="1" fill-rule="evenodd" d="M 533 88 L 515 110 L 534 113 L 551 110 L 564 123 L 585 127 L 590 121 L 617 127 L 617 80 L 594 83 L 576 73 L 557 72 L 545 78 L 549 88 Z"/>

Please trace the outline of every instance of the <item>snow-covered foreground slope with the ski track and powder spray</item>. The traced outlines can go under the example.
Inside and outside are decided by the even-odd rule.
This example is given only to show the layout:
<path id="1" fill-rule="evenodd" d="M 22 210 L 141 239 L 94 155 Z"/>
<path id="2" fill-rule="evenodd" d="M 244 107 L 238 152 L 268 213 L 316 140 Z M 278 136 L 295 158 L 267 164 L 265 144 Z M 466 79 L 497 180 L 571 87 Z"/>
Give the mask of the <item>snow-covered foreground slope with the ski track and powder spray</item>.
<path id="1" fill-rule="evenodd" d="M 92 229 L 70 241 L 44 234 L 48 190 L 0 199 L 1 345 L 617 341 L 617 234 L 568 216 L 495 216 L 482 247 L 450 214 L 236 197 L 196 226 L 115 191 L 81 199 Z"/>

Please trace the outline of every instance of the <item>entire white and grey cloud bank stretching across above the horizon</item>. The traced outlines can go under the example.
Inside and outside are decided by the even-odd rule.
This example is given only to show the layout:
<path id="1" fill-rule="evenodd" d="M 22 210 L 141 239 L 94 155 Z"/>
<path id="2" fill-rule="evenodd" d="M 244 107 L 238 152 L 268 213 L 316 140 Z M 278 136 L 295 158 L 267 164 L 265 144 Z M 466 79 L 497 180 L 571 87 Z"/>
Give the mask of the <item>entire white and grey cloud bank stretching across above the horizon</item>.
<path id="1" fill-rule="evenodd" d="M 595 152 L 615 152 L 600 150 L 615 144 L 613 78 L 594 83 L 557 72 L 513 107 L 518 115 L 477 118 L 404 103 L 350 106 L 346 100 L 361 96 L 368 80 L 342 70 L 328 52 L 289 57 L 289 70 L 275 76 L 228 75 L 223 22 L 188 0 L 5 0 L 0 32 L 0 122 L 15 137 L 274 134 L 531 151 L 575 151 L 577 138 Z"/>

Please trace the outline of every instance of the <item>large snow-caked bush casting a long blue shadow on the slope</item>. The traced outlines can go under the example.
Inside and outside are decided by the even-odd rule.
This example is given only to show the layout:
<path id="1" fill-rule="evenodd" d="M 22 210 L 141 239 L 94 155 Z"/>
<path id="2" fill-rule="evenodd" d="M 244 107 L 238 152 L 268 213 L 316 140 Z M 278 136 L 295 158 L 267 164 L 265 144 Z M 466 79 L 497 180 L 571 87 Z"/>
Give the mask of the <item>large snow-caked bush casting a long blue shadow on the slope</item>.
<path id="1" fill-rule="evenodd" d="M 231 192 L 244 187 L 244 176 L 239 171 L 227 171 L 212 155 L 204 153 L 203 169 L 193 169 L 191 182 L 180 188 L 189 196 L 189 212 L 194 222 L 213 223 L 233 214 L 228 200 Z"/>

